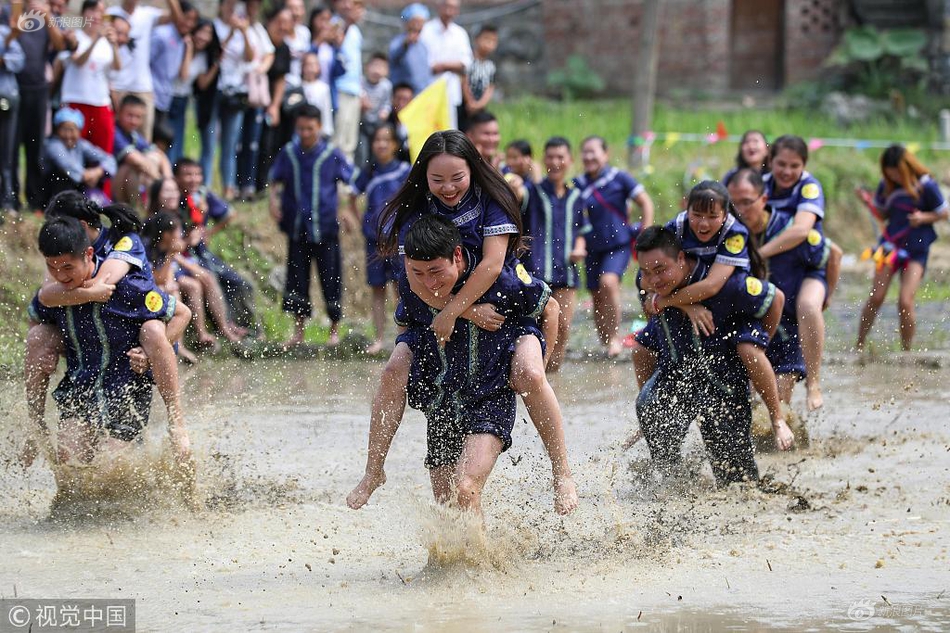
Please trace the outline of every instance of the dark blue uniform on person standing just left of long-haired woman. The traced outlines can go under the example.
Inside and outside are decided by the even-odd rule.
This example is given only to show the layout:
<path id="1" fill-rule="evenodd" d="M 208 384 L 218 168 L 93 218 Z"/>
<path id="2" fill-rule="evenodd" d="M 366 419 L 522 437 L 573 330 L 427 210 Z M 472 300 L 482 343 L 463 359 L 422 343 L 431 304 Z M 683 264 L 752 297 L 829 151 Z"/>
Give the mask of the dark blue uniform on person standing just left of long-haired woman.
<path id="1" fill-rule="evenodd" d="M 366 282 L 381 288 L 396 279 L 396 258 L 384 258 L 379 254 L 379 214 L 403 183 L 412 166 L 394 160 L 386 165 L 373 164 L 357 174 L 353 180 L 353 193 L 366 194 L 366 213 L 363 215 L 363 237 L 366 240 Z"/>

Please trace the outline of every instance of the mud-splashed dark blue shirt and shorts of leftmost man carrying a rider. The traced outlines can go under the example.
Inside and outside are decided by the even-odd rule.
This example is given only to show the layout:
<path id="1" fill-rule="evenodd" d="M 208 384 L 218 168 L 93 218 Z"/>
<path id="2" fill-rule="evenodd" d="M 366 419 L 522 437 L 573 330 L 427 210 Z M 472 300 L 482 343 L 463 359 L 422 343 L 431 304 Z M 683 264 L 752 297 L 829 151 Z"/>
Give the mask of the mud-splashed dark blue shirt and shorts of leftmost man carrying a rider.
<path id="1" fill-rule="evenodd" d="M 97 271 L 100 263 L 97 259 Z M 116 283 L 107 303 L 47 308 L 36 296 L 29 314 L 63 333 L 66 375 L 53 392 L 62 419 L 96 424 L 121 440 L 135 439 L 148 422 L 152 377 L 133 372 L 126 352 L 139 345 L 145 321 L 171 319 L 175 298 L 133 269 Z"/>

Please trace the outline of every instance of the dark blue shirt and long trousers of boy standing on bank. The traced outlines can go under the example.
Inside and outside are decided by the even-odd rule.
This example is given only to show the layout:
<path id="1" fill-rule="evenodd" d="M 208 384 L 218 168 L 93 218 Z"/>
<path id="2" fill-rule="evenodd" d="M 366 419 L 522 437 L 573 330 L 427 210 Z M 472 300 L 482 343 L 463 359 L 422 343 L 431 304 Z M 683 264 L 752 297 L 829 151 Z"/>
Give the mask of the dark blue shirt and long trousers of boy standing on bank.
<path id="1" fill-rule="evenodd" d="M 349 182 L 352 177 L 353 167 L 343 153 L 323 140 L 309 150 L 292 141 L 274 159 L 270 181 L 284 185 L 280 230 L 289 242 L 285 312 L 301 317 L 313 314 L 310 265 L 315 263 L 327 315 L 333 322 L 343 315 L 337 183 Z"/>

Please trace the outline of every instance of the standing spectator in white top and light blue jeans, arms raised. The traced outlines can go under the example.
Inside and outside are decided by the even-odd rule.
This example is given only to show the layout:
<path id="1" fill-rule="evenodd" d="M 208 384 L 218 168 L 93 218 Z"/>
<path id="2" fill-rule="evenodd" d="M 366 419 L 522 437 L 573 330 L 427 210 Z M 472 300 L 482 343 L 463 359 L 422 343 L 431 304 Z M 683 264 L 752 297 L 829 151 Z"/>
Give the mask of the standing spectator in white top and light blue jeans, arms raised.
<path id="1" fill-rule="evenodd" d="M 248 41 L 250 22 L 237 0 L 221 0 L 214 30 L 221 42 L 221 69 L 218 75 L 218 123 L 221 133 L 221 184 L 224 199 L 237 197 L 237 146 L 247 105 L 247 66 L 254 61 L 254 45 Z M 205 175 L 210 179 L 210 172 Z"/>

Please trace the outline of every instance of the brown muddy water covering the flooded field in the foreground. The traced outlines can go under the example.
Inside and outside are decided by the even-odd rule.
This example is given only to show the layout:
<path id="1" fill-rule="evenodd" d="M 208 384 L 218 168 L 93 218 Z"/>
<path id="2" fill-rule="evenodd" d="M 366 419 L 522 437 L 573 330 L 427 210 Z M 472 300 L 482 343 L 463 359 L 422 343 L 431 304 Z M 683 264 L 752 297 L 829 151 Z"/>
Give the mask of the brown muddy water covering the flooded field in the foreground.
<path id="1" fill-rule="evenodd" d="M 156 631 L 950 627 L 946 368 L 828 367 L 811 445 L 761 455 L 763 488 L 717 491 L 695 430 L 676 480 L 654 481 L 642 442 L 619 452 L 635 428 L 629 363 L 570 363 L 554 386 L 581 507 L 553 513 L 540 443 L 519 422 L 486 491 L 484 541 L 429 503 L 415 412 L 387 485 L 345 507 L 380 370 L 190 371 L 194 513 L 156 476 L 157 491 L 57 502 L 51 516 L 47 465 L 9 462 L 24 415 L 21 388 L 3 386 L 0 596 L 136 598 L 139 629 Z M 160 463 L 162 417 L 142 464 Z"/>

